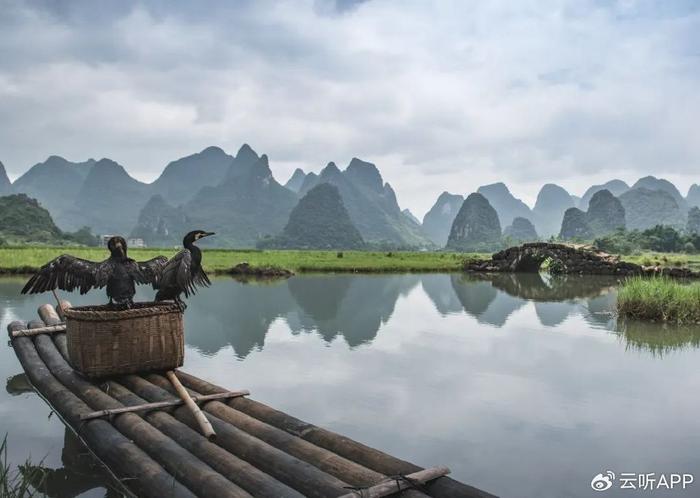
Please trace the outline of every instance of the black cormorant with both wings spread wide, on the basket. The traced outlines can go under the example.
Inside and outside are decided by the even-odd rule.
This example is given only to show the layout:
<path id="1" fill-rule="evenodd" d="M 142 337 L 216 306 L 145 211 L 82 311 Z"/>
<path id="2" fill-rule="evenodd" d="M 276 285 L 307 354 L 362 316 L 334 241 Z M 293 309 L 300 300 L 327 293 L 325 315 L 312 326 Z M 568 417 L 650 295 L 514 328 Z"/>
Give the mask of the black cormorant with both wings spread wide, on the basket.
<path id="1" fill-rule="evenodd" d="M 107 242 L 110 256 L 95 263 L 86 259 L 63 254 L 49 261 L 29 279 L 22 294 L 37 294 L 56 288 L 81 294 L 90 289 L 107 287 L 109 304 L 120 308 L 133 305 L 135 284 L 155 284 L 168 259 L 158 256 L 148 261 L 136 262 L 127 257 L 126 240 L 112 237 Z"/>

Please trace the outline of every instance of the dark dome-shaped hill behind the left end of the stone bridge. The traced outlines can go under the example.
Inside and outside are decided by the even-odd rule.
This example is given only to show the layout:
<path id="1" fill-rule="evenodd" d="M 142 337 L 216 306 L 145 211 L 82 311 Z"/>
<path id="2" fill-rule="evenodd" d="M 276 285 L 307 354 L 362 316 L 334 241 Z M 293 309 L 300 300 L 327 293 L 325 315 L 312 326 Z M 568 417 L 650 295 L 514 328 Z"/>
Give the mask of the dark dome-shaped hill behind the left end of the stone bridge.
<path id="1" fill-rule="evenodd" d="M 500 245 L 498 213 L 480 193 L 469 194 L 452 223 L 447 248 L 456 251 L 490 251 Z"/>

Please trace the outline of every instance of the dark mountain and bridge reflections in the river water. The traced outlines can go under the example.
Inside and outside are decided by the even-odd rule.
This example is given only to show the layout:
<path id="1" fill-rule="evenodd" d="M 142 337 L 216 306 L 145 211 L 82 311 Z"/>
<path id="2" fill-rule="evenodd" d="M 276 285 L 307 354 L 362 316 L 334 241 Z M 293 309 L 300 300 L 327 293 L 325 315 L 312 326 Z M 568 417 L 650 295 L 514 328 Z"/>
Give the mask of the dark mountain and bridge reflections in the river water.
<path id="1" fill-rule="evenodd" d="M 316 331 L 327 342 L 342 336 L 356 347 L 372 341 L 389 321 L 396 301 L 420 285 L 443 316 L 467 313 L 479 323 L 503 326 L 529 301 L 540 323 L 554 327 L 580 313 L 596 327 L 610 328 L 616 280 L 540 274 L 313 275 L 288 280 L 217 280 L 198 296 L 189 314 L 206 330 L 188 343 L 212 355 L 227 346 L 238 358 L 261 349 L 277 319 L 293 334 Z"/>

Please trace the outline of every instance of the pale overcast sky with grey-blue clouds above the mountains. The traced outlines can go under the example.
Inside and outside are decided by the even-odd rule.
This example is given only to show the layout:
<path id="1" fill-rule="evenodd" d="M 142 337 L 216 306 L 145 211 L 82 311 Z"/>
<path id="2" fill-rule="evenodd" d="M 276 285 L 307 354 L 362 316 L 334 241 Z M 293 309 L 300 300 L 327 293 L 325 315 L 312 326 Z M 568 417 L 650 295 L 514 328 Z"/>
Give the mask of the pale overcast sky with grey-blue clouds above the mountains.
<path id="1" fill-rule="evenodd" d="M 0 161 L 109 157 L 152 181 L 218 145 L 374 162 L 417 215 L 443 190 L 654 174 L 700 183 L 695 1 L 0 0 Z"/>

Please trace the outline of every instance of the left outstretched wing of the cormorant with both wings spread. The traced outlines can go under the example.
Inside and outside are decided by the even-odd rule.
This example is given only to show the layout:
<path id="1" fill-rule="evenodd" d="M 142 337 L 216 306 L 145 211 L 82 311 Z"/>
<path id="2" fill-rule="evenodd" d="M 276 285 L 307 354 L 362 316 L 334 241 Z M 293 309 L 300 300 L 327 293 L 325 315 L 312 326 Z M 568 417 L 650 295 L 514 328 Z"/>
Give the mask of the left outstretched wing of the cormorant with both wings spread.
<path id="1" fill-rule="evenodd" d="M 85 294 L 92 288 L 102 288 L 112 273 L 107 261 L 96 263 L 63 254 L 49 261 L 36 272 L 22 289 L 22 294 L 37 294 L 56 288 Z"/>

